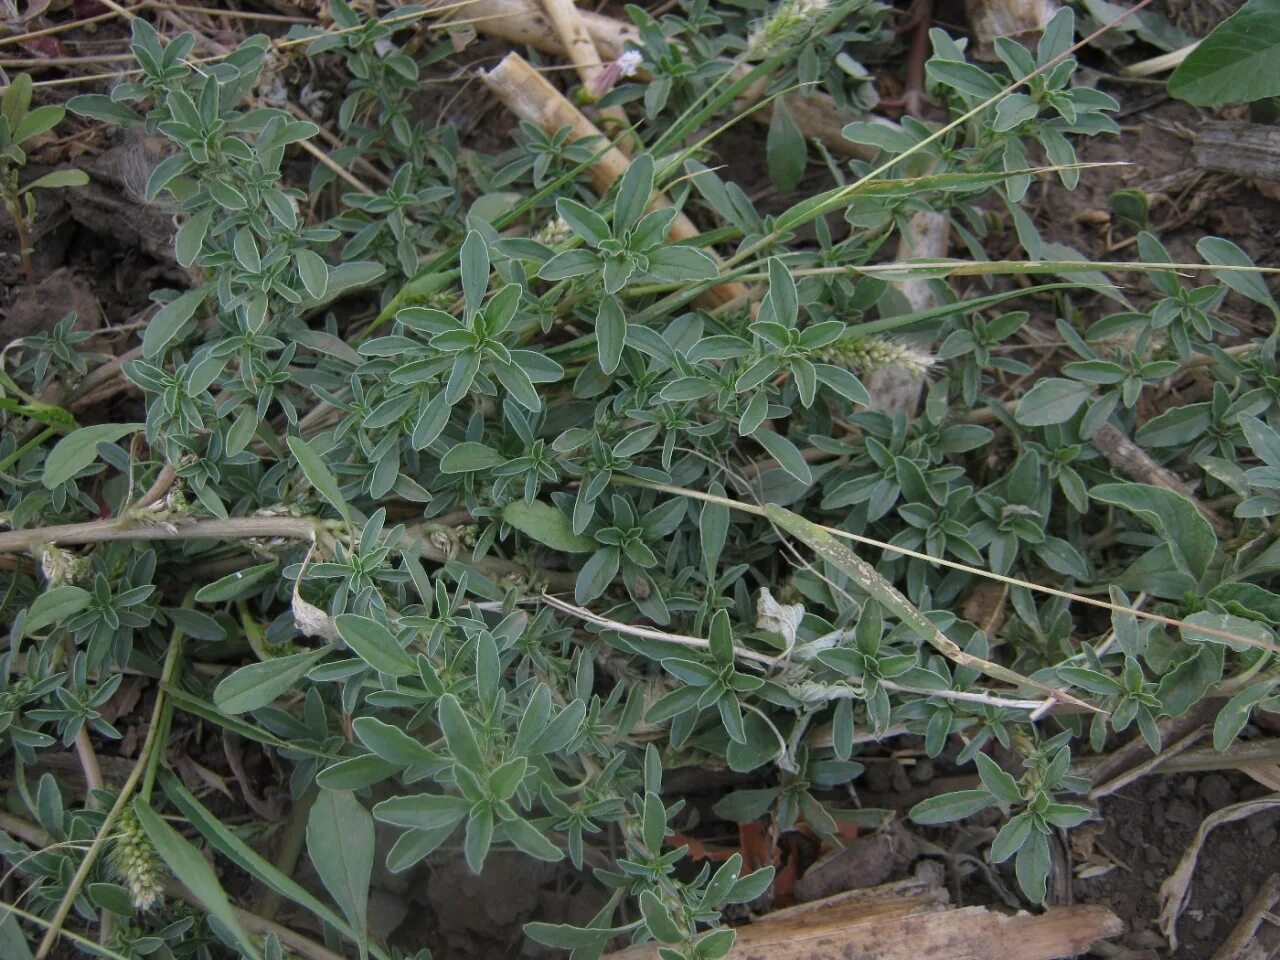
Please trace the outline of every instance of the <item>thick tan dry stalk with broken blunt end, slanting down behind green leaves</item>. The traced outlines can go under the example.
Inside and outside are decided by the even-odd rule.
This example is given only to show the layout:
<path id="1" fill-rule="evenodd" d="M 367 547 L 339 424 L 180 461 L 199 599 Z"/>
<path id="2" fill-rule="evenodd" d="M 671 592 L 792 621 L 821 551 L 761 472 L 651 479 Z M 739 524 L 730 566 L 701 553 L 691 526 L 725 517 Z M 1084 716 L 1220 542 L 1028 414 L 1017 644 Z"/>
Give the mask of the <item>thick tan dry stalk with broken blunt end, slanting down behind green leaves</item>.
<path id="1" fill-rule="evenodd" d="M 488 0 L 481 1 L 486 3 Z M 521 120 L 540 127 L 547 133 L 554 133 L 568 127 L 573 132 L 573 140 L 600 137 L 602 142 L 604 141 L 604 134 L 600 133 L 595 124 L 586 119 L 581 110 L 568 102 L 520 54 L 507 54 L 502 63 L 492 70 L 488 73 L 481 72 L 480 78 L 493 91 L 494 96 Z M 609 147 L 589 172 L 591 186 L 598 193 L 605 193 L 627 172 L 630 165 L 631 161 L 621 150 Z M 657 197 L 653 206 L 668 206 L 668 201 L 664 197 Z M 668 234 L 672 242 L 687 241 L 698 236 L 699 230 L 694 225 L 694 221 L 684 214 L 676 216 Z M 709 308 L 717 307 L 739 297 L 745 297 L 746 292 L 746 287 L 740 283 L 722 283 L 703 293 L 698 302 Z"/>

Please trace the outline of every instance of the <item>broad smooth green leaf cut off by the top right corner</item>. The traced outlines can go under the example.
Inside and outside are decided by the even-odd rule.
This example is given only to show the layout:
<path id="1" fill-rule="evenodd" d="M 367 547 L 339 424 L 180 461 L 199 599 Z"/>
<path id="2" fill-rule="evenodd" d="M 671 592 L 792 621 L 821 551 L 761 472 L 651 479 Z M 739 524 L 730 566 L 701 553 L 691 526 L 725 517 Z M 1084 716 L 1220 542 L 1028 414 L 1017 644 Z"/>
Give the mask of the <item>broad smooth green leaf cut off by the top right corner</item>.
<path id="1" fill-rule="evenodd" d="M 1169 95 L 1197 106 L 1280 95 L 1280 0 L 1249 0 L 1169 78 Z"/>

